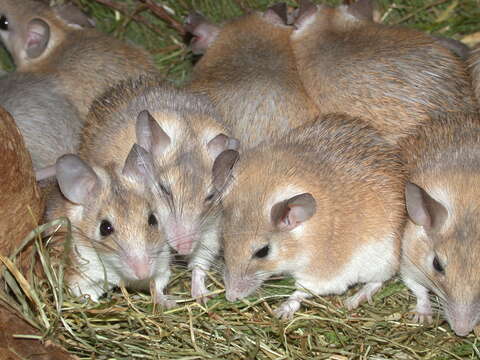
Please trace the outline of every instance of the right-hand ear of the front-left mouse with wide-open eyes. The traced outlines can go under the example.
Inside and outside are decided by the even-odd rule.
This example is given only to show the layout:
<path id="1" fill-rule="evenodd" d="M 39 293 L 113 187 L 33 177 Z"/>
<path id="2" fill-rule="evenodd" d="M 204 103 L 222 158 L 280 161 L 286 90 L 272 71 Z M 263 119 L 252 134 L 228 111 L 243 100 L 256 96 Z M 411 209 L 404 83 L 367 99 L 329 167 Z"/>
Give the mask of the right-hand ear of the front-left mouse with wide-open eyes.
<path id="1" fill-rule="evenodd" d="M 133 144 L 128 153 L 122 175 L 139 183 L 150 182 L 153 179 L 152 155 L 138 144 Z"/>

